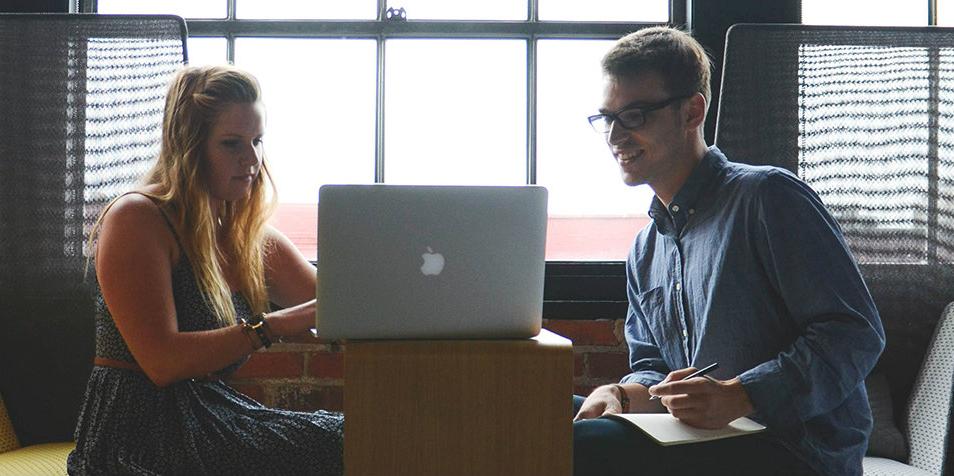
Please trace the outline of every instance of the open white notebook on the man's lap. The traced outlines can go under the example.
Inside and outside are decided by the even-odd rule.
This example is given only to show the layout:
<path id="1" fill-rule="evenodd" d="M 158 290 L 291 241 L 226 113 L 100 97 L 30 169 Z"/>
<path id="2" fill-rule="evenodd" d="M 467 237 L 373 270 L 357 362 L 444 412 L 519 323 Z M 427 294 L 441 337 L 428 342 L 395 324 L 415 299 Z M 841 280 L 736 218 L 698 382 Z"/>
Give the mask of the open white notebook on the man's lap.
<path id="1" fill-rule="evenodd" d="M 716 430 L 689 426 L 669 413 L 621 413 L 605 415 L 603 418 L 612 418 L 629 423 L 642 430 L 662 446 L 712 441 L 765 430 L 764 425 L 746 417 L 733 420 L 725 427 Z"/>

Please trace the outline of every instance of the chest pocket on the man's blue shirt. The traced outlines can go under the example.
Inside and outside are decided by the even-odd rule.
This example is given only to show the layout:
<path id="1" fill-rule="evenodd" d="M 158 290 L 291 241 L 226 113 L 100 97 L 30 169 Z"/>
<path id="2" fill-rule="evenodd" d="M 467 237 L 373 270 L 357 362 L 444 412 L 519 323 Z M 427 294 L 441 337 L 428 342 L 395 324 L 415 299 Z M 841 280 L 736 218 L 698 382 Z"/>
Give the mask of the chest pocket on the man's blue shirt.
<path id="1" fill-rule="evenodd" d="M 637 296 L 645 325 L 659 347 L 659 352 L 671 368 L 682 368 L 686 360 L 683 351 L 682 326 L 673 308 L 668 289 L 655 287 Z M 676 365 L 675 367 L 673 367 Z M 680 367 L 679 365 L 682 365 Z"/>

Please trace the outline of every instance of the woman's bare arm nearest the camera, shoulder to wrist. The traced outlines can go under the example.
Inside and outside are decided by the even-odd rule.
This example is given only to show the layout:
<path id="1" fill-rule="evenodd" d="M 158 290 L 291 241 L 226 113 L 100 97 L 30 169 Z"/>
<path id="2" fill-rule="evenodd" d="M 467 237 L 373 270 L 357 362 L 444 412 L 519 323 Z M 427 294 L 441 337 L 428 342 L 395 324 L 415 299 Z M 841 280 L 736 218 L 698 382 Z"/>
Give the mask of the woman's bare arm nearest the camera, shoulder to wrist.
<path id="1" fill-rule="evenodd" d="M 103 218 L 96 277 L 130 352 L 157 386 L 202 377 L 249 354 L 239 326 L 179 332 L 172 268 L 174 235 L 156 205 L 141 195 L 119 199 Z"/>

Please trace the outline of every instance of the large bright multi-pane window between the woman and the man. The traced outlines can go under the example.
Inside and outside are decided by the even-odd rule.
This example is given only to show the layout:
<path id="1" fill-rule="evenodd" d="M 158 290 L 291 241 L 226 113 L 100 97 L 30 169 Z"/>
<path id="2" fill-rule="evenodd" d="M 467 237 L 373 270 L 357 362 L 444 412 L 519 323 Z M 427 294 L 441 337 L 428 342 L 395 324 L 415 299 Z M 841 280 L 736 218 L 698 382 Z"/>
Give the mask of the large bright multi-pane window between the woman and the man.
<path id="1" fill-rule="evenodd" d="M 231 61 L 259 78 L 281 204 L 274 223 L 311 259 L 320 185 L 385 182 L 544 185 L 548 260 L 623 260 L 652 192 L 622 183 L 585 118 L 599 106 L 600 57 L 616 38 L 670 22 L 670 2 L 386 3 L 95 6 L 181 15 L 190 63 Z"/>

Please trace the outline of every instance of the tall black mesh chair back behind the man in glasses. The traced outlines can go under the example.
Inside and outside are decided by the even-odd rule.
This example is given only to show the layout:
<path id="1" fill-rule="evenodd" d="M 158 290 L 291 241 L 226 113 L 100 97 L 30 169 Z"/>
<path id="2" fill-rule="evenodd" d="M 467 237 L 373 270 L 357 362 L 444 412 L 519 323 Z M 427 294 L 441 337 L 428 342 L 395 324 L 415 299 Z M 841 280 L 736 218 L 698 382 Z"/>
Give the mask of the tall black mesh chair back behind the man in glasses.
<path id="1" fill-rule="evenodd" d="M 715 143 L 730 160 L 795 172 L 839 221 L 887 334 L 875 371 L 918 439 L 903 474 L 942 474 L 950 370 L 926 369 L 916 387 L 943 399 L 939 421 L 908 424 L 914 377 L 954 301 L 954 29 L 736 25 L 723 71 Z"/>

